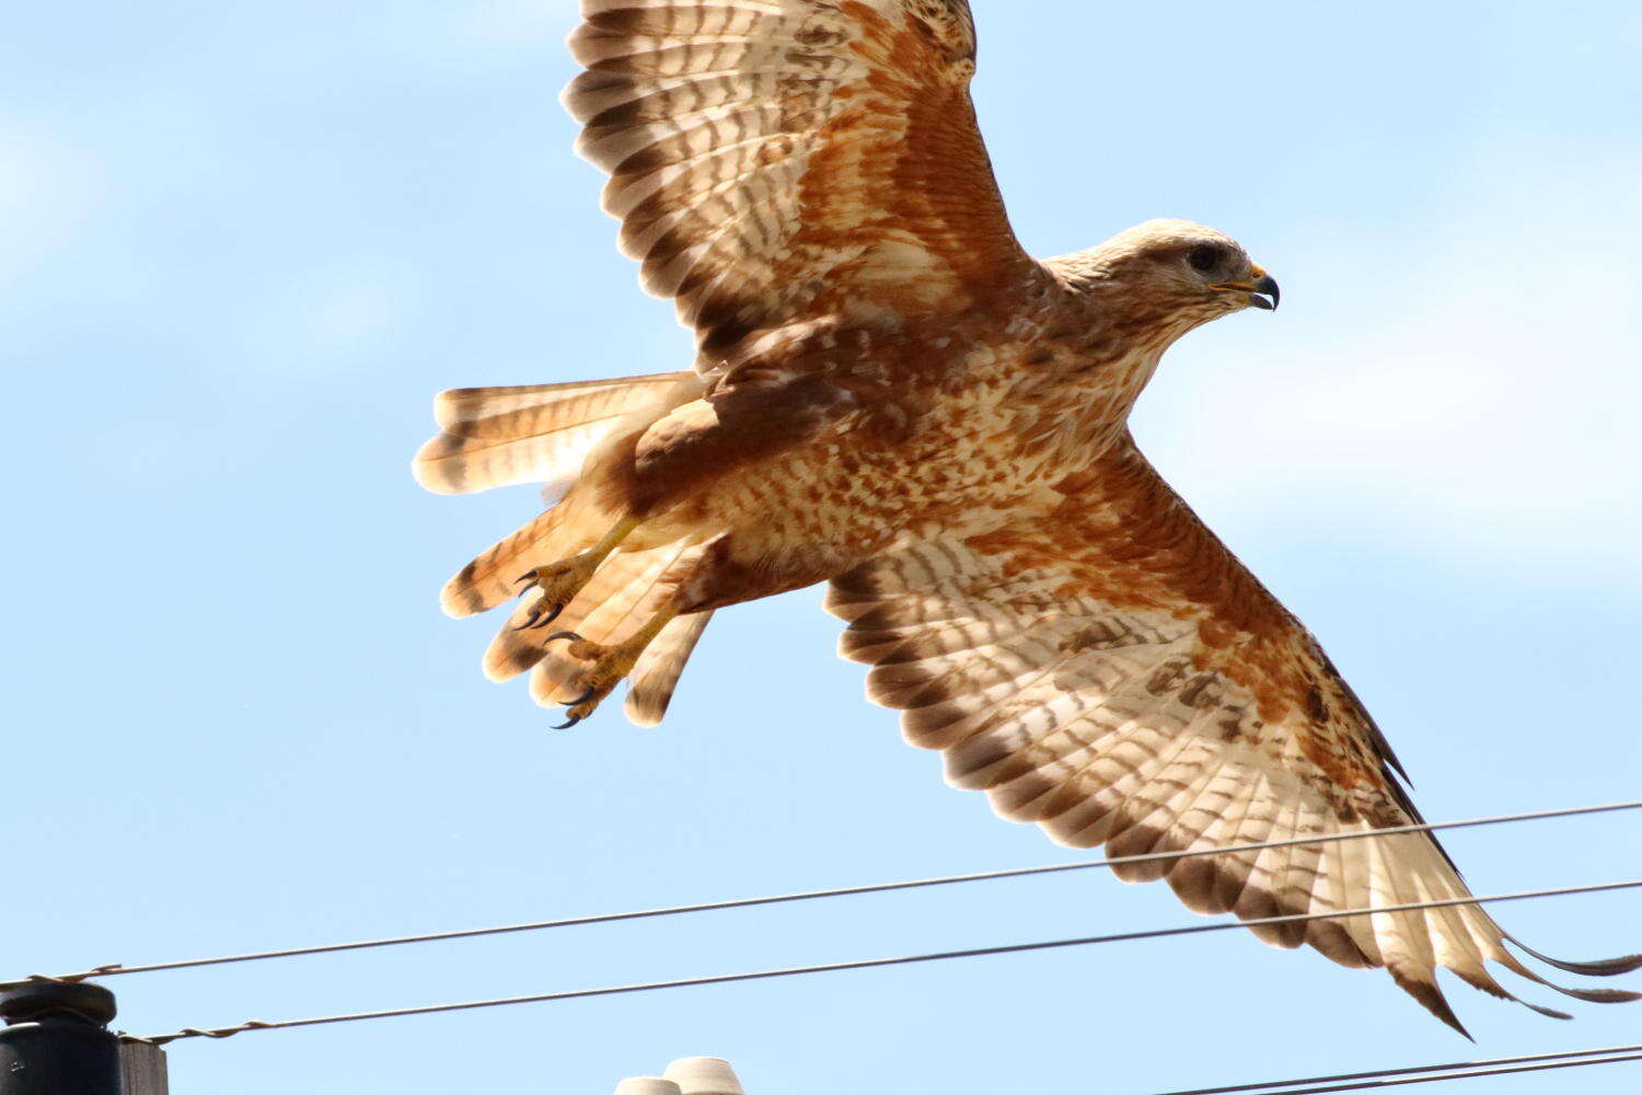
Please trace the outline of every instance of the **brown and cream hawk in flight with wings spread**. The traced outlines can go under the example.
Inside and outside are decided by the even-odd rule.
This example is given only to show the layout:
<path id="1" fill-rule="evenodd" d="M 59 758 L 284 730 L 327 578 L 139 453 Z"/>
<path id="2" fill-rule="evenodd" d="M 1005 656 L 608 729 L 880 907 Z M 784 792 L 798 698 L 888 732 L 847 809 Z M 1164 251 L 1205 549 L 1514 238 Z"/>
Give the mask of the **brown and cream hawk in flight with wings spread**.
<path id="1" fill-rule="evenodd" d="M 1028 256 L 970 105 L 964 0 L 581 13 L 586 71 L 563 97 L 578 151 L 609 172 L 621 248 L 696 358 L 438 397 L 424 486 L 562 497 L 443 591 L 452 616 L 517 598 L 486 675 L 530 673 L 570 722 L 631 680 L 627 714 L 654 726 L 716 609 L 828 581 L 842 653 L 874 667 L 869 694 L 906 739 L 1062 844 L 1197 852 L 1419 822 L 1322 647 L 1126 428 L 1171 343 L 1276 309 L 1236 241 L 1154 220 Z M 1253 921 L 1468 896 L 1424 832 L 1117 873 Z M 1384 967 L 1461 1033 L 1438 967 L 1512 1000 L 1486 962 L 1548 985 L 1475 905 L 1251 928 Z"/>

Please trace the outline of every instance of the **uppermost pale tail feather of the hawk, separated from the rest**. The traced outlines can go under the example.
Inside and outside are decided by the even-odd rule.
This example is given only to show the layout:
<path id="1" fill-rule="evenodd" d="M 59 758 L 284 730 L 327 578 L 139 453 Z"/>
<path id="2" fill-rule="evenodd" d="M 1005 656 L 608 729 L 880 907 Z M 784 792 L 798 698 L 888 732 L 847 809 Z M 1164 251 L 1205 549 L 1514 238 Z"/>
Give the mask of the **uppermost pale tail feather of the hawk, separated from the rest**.
<path id="1" fill-rule="evenodd" d="M 422 445 L 410 471 L 435 494 L 573 478 L 624 417 L 662 404 L 691 376 L 655 373 L 442 392 L 433 417 L 443 432 Z"/>

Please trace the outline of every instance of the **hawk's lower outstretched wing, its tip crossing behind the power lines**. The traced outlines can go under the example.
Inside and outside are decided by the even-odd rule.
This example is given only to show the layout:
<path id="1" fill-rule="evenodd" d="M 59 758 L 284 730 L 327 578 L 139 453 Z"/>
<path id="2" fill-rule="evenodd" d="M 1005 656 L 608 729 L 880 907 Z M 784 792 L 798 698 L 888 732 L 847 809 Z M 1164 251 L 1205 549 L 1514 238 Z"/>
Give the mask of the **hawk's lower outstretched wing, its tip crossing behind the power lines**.
<path id="1" fill-rule="evenodd" d="M 915 745 L 946 755 L 951 783 L 1112 855 L 1417 822 L 1384 739 L 1315 639 L 1131 442 L 1057 489 L 1064 502 L 1046 517 L 890 553 L 832 584 L 844 655 L 877 667 L 870 696 L 905 711 Z M 1194 911 L 1243 919 L 1468 896 L 1424 832 L 1117 873 L 1167 878 Z M 1251 928 L 1279 947 L 1386 967 L 1455 1028 L 1437 967 L 1512 1000 L 1484 960 L 1548 983 L 1475 905 Z M 1553 965 L 1619 974 L 1642 959 Z"/>

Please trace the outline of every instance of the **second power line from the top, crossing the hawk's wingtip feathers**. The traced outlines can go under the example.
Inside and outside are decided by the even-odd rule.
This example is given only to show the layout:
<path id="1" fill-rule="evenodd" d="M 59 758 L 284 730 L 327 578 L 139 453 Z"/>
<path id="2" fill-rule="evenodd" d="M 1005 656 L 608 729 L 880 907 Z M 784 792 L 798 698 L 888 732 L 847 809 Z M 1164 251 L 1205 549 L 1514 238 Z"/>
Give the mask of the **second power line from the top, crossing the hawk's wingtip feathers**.
<path id="1" fill-rule="evenodd" d="M 869 970 L 883 969 L 890 965 L 915 965 L 921 962 L 946 962 L 952 959 L 979 959 L 998 954 L 1026 954 L 1031 951 L 1054 951 L 1061 947 L 1085 947 L 1103 942 L 1128 942 L 1135 939 L 1164 939 L 1171 936 L 1200 936 L 1213 931 L 1233 931 L 1241 928 L 1256 928 L 1263 924 L 1304 924 L 1314 919 L 1345 919 L 1350 916 L 1374 916 L 1379 913 L 1415 913 L 1420 909 L 1438 909 L 1453 908 L 1458 905 L 1499 905 L 1504 901 L 1527 901 L 1532 898 L 1553 898 L 1553 896 L 1571 896 L 1576 893 L 1611 893 L 1616 890 L 1637 890 L 1642 888 L 1642 878 L 1632 882 L 1609 882 L 1589 887 L 1563 887 L 1557 890 L 1529 890 L 1522 893 L 1498 893 L 1491 896 L 1471 896 L 1471 898 L 1447 898 L 1442 901 L 1419 901 L 1412 905 L 1386 905 L 1381 908 L 1358 908 L 1343 909 L 1338 913 L 1299 913 L 1287 916 L 1261 916 L 1245 921 L 1223 921 L 1215 924 L 1189 924 L 1184 928 L 1161 928 L 1151 931 L 1128 931 L 1112 936 L 1085 936 L 1080 939 L 1053 939 L 1048 942 L 1016 942 L 998 947 L 975 947 L 969 951 L 938 951 L 933 954 L 911 954 L 888 959 L 857 959 L 852 962 L 826 962 L 821 965 L 795 965 L 775 970 L 752 970 L 744 974 L 714 974 L 709 977 L 686 977 L 680 980 L 665 982 L 642 982 L 634 985 L 606 985 L 601 988 L 573 988 L 566 992 L 550 992 L 535 993 L 529 996 L 502 996 L 496 1000 L 470 1000 L 465 1003 L 435 1003 L 422 1005 L 414 1008 L 389 1008 L 383 1011 L 356 1011 L 351 1015 L 327 1015 L 309 1019 L 277 1019 L 273 1023 L 264 1023 L 261 1019 L 250 1019 L 240 1023 L 238 1026 L 222 1026 L 213 1029 L 200 1028 L 184 1028 L 174 1034 L 156 1034 L 151 1038 L 140 1038 L 133 1041 L 143 1041 L 156 1046 L 164 1046 L 184 1038 L 232 1038 L 235 1034 L 245 1034 L 248 1031 L 279 1031 L 292 1029 L 299 1026 L 327 1026 L 332 1023 L 358 1023 L 365 1019 L 394 1019 L 407 1018 L 414 1015 L 443 1015 L 452 1011 L 475 1011 L 479 1008 L 504 1008 L 522 1003 L 548 1003 L 553 1000 L 588 1000 L 593 996 L 619 996 L 627 993 L 640 992 L 660 992 L 667 988 L 693 988 L 699 985 L 729 985 L 736 982 L 755 982 L 755 980 L 773 980 L 778 977 L 801 977 L 808 974 L 836 974 L 842 970 Z M 1333 1088 L 1315 1088 L 1315 1090 L 1333 1090 Z M 1299 1095 L 1291 1093 L 1291 1095 Z"/>

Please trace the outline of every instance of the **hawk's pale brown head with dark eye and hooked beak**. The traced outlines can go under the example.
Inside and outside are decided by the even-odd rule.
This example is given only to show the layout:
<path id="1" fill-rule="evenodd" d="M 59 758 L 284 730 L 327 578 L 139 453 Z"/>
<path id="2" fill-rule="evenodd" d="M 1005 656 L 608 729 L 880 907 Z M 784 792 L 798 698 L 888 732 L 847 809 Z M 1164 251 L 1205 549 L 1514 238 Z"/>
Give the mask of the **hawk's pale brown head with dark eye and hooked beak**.
<path id="1" fill-rule="evenodd" d="M 1277 282 L 1236 240 L 1187 220 L 1148 220 L 1085 251 L 1084 263 L 1102 296 L 1117 294 L 1125 312 L 1161 322 L 1172 338 L 1232 312 L 1277 307 Z"/>

